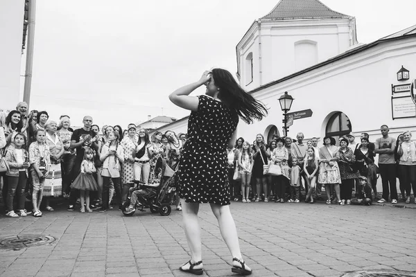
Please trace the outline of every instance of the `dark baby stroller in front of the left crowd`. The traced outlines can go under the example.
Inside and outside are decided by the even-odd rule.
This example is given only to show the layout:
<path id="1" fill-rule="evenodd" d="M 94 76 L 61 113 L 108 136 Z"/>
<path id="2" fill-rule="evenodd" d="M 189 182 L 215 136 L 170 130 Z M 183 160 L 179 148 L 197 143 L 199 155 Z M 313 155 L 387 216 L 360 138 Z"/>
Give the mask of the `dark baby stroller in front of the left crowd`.
<path id="1" fill-rule="evenodd" d="M 144 207 L 149 207 L 151 213 L 159 213 L 160 215 L 164 216 L 170 215 L 172 208 L 169 204 L 169 193 L 171 192 L 171 186 L 173 186 L 174 177 L 175 170 L 172 170 L 166 163 L 164 163 L 162 169 L 162 178 L 160 179 L 159 186 L 156 188 L 158 190 L 157 195 L 155 195 L 155 197 L 149 197 L 148 199 L 144 197 L 138 197 L 135 208 L 132 209 L 132 211 L 128 211 L 128 206 L 130 206 L 130 199 L 133 191 L 141 190 L 144 188 L 155 188 L 153 186 L 146 186 L 146 184 L 142 181 L 133 181 L 135 184 L 137 184 L 137 188 L 130 188 L 129 197 L 121 209 L 121 211 L 123 211 L 123 215 L 134 215 L 137 206 L 141 206 L 141 210 L 139 211 L 146 211 L 144 210 Z"/>

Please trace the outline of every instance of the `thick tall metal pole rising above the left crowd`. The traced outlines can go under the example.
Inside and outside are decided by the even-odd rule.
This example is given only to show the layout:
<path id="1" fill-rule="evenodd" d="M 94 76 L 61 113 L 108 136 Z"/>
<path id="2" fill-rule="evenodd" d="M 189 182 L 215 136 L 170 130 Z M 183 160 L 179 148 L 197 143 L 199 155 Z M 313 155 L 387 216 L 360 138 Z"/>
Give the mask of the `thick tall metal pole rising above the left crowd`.
<path id="1" fill-rule="evenodd" d="M 32 68 L 33 68 L 33 44 L 35 43 L 35 12 L 36 0 L 28 2 L 28 43 L 26 48 L 26 73 L 24 78 L 23 100 L 31 103 L 31 85 L 32 85 Z"/>

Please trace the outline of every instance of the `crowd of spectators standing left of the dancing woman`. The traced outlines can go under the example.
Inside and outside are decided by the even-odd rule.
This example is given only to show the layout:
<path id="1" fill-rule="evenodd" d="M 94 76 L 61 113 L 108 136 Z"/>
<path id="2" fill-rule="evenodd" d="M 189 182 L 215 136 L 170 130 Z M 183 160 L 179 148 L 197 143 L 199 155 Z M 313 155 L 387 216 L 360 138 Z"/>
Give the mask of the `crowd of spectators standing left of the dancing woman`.
<path id="1" fill-rule="evenodd" d="M 77 205 L 81 213 L 105 212 L 113 205 L 121 209 L 135 181 L 157 187 L 162 165 L 176 168 L 186 140 L 186 134 L 171 131 L 150 137 L 147 129 L 137 129 L 134 123 L 126 129 L 120 125 L 100 128 L 91 116 L 85 116 L 83 127 L 74 130 L 69 116 L 51 120 L 46 111 L 28 112 L 26 102 L 19 102 L 8 114 L 0 111 L 5 213 L 41 217 L 42 211 L 54 211 L 52 197 L 66 199 L 68 211 Z M 171 204 L 182 210 L 177 193 Z"/>

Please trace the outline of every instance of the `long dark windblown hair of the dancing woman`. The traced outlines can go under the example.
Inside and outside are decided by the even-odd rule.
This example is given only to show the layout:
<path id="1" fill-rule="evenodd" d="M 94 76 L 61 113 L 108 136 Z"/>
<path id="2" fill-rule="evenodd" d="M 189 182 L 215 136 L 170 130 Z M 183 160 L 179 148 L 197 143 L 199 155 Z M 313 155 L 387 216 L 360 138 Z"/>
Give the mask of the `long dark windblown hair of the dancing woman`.
<path id="1" fill-rule="evenodd" d="M 218 98 L 230 109 L 236 112 L 245 123 L 261 120 L 268 114 L 262 102 L 254 99 L 237 84 L 229 71 L 225 69 L 212 69 L 212 77 L 220 89 Z"/>

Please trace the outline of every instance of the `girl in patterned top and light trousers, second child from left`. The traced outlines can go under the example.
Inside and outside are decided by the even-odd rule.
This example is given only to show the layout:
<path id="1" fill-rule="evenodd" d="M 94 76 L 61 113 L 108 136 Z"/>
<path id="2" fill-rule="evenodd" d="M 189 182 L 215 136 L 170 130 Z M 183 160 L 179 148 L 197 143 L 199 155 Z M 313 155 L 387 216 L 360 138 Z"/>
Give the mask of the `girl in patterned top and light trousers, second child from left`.
<path id="1" fill-rule="evenodd" d="M 37 129 L 34 134 L 36 141 L 29 146 L 29 162 L 32 166 L 31 177 L 33 182 L 33 216 L 41 217 L 40 203 L 42 202 L 45 178 L 49 175 L 51 152 L 49 146 L 45 143 L 46 132 L 43 129 Z"/>

